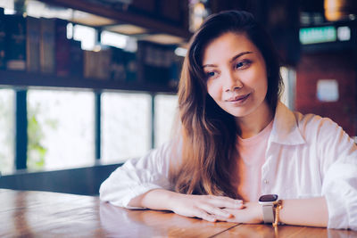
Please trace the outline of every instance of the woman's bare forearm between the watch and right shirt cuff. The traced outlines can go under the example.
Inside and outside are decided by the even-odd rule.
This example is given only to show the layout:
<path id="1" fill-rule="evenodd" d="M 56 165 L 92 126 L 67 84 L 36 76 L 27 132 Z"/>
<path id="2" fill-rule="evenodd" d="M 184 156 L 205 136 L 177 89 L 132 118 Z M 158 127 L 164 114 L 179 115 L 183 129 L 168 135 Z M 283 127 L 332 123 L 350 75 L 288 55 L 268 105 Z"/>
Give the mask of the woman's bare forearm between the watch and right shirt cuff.
<path id="1" fill-rule="evenodd" d="M 327 202 L 324 197 L 284 200 L 279 221 L 286 225 L 327 227 Z"/>

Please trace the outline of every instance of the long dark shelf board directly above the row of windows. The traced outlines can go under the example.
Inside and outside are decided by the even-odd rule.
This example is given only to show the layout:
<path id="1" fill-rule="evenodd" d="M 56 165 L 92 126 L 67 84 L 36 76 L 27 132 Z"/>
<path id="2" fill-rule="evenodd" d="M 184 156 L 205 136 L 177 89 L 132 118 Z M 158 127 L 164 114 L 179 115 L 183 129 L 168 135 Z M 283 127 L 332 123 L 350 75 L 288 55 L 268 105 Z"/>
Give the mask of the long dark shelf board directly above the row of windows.
<path id="1" fill-rule="evenodd" d="M 55 87 L 93 90 L 123 90 L 145 93 L 175 94 L 176 87 L 149 82 L 118 82 L 95 78 L 58 77 L 26 71 L 0 70 L 1 87 Z"/>

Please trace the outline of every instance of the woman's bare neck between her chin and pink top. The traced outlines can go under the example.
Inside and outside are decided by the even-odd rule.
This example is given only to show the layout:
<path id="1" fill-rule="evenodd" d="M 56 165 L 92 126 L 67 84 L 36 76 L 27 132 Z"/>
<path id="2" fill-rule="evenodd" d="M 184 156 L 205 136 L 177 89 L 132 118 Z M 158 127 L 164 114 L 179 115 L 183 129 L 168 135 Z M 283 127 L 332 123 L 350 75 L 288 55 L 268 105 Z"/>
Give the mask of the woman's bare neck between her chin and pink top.
<path id="1" fill-rule="evenodd" d="M 243 139 L 259 134 L 273 119 L 273 112 L 268 103 L 262 103 L 260 108 L 245 117 L 237 118 L 237 126 L 240 128 L 240 136 Z"/>

